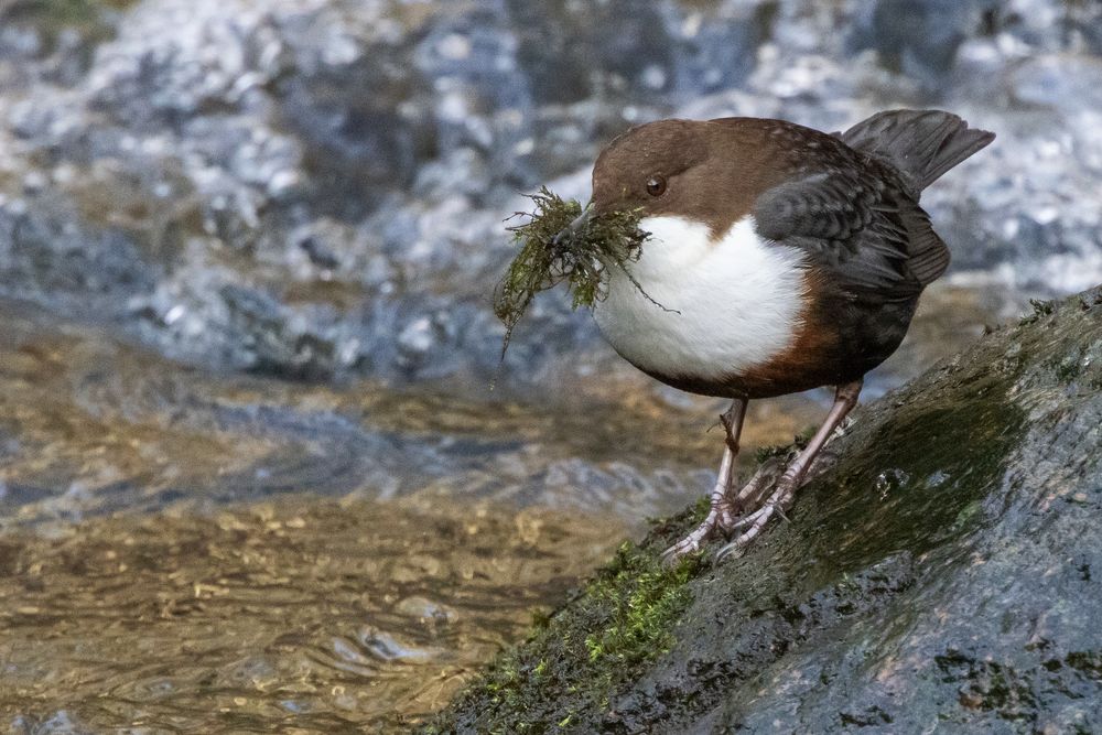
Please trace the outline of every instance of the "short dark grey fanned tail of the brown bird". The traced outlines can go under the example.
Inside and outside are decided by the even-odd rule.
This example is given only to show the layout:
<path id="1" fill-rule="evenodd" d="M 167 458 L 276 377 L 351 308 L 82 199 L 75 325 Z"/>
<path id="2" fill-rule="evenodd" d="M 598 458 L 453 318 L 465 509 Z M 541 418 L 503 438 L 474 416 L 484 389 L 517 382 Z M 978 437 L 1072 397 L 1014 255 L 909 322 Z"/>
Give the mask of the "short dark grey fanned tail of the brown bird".
<path id="1" fill-rule="evenodd" d="M 951 112 L 888 110 L 841 136 L 851 148 L 886 161 L 918 195 L 947 171 L 984 148 L 995 133 L 968 127 Z"/>

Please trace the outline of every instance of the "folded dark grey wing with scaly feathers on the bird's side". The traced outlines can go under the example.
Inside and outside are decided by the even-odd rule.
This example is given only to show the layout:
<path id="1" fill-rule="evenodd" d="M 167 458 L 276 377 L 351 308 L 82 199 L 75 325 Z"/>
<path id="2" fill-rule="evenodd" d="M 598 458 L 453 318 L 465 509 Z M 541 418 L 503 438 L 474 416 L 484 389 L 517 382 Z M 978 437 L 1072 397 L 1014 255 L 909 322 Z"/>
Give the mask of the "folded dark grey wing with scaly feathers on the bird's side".
<path id="1" fill-rule="evenodd" d="M 901 186 L 869 173 L 840 165 L 766 191 L 757 233 L 806 250 L 851 293 L 911 299 L 944 272 L 949 250 Z"/>

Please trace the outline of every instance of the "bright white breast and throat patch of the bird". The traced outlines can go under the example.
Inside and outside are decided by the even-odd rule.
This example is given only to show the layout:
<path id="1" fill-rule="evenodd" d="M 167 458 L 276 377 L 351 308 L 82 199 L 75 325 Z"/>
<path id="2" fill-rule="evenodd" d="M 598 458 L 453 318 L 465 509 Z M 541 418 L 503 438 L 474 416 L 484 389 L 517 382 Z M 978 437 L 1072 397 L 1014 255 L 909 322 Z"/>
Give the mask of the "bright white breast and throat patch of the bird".
<path id="1" fill-rule="evenodd" d="M 613 268 L 607 298 L 593 311 L 624 358 L 652 372 L 720 380 L 792 345 L 806 288 L 799 250 L 761 240 L 752 217 L 717 242 L 682 217 L 639 226 L 651 237 L 629 270 L 661 306 Z"/>

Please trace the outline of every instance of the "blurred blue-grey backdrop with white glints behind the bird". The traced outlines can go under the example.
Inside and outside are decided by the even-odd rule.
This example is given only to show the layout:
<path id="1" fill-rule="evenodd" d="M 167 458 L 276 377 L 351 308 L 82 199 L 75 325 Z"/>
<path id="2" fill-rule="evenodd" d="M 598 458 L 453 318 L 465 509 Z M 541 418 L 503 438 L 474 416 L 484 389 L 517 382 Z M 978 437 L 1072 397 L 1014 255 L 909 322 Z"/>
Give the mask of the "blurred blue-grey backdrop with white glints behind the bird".
<path id="1" fill-rule="evenodd" d="M 646 120 L 942 106 L 950 282 L 1102 273 L 1102 8 L 1077 0 L 8 0 L 0 289 L 187 363 L 483 391 L 503 219 Z M 607 367 L 543 298 L 498 385 Z M 569 377 L 568 377 L 569 376 Z"/>

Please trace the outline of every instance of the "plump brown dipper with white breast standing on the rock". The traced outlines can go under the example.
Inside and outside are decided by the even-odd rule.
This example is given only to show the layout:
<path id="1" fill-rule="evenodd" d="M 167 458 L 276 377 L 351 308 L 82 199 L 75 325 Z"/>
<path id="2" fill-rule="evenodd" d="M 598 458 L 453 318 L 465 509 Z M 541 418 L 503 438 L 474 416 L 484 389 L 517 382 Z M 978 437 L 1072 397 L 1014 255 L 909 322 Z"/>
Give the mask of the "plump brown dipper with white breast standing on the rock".
<path id="1" fill-rule="evenodd" d="M 865 375 L 949 267 L 922 191 L 994 138 L 951 112 L 898 109 L 832 133 L 749 117 L 657 120 L 601 151 L 591 202 L 561 235 L 633 210 L 648 237 L 609 269 L 598 329 L 648 376 L 731 399 L 707 516 L 668 560 L 736 531 L 726 549 L 744 549 L 785 517 Z M 748 401 L 824 386 L 833 404 L 775 485 L 736 489 Z"/>

